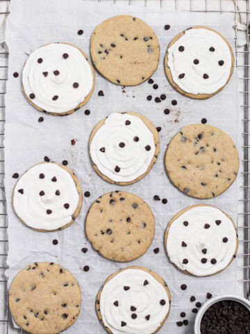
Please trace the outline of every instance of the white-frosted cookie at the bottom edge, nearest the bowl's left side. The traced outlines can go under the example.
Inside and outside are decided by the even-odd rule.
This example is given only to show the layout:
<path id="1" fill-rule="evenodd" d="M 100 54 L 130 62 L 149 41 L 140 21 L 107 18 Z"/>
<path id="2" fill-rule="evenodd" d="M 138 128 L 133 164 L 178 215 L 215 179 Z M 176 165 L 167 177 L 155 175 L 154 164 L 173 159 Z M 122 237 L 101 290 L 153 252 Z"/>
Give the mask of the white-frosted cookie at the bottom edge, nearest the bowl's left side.
<path id="1" fill-rule="evenodd" d="M 163 278 L 144 267 L 128 267 L 107 278 L 97 295 L 96 310 L 110 334 L 152 334 L 165 323 L 170 303 Z"/>

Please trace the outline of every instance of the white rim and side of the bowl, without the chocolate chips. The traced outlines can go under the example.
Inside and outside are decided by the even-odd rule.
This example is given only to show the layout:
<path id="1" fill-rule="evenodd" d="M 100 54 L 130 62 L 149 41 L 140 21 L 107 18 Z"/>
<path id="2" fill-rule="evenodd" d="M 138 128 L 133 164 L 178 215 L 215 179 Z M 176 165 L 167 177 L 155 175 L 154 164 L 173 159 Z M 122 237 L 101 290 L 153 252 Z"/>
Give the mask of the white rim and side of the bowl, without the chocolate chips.
<path id="1" fill-rule="evenodd" d="M 206 301 L 206 303 L 204 303 L 204 305 L 199 309 L 199 312 L 197 313 L 197 316 L 195 317 L 194 334 L 201 334 L 201 319 L 204 313 L 206 312 L 206 310 L 208 310 L 208 308 L 210 308 L 211 305 L 217 303 L 217 301 L 226 301 L 226 300 L 238 301 L 238 303 L 241 303 L 250 311 L 250 301 L 240 296 L 234 296 L 231 294 L 222 294 L 221 296 L 217 296 L 213 299 L 209 299 L 209 301 Z"/>

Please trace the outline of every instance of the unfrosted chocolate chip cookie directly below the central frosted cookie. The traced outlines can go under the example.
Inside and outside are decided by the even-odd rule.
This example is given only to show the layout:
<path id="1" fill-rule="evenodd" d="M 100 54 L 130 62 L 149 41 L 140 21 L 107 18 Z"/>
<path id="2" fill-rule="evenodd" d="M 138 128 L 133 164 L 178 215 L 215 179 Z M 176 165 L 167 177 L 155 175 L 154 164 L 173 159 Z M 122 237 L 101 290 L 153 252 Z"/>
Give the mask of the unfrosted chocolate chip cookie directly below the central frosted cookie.
<path id="1" fill-rule="evenodd" d="M 103 257 L 126 262 L 142 256 L 153 241 L 155 221 L 142 198 L 113 191 L 97 198 L 90 207 L 85 231 Z"/>

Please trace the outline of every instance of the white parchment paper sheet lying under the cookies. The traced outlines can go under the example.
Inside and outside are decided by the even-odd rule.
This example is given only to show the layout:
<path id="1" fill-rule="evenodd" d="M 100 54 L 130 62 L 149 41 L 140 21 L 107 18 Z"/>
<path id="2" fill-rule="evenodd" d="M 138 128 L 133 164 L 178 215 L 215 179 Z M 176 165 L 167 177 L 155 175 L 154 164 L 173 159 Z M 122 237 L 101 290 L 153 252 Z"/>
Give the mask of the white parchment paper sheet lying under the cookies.
<path id="1" fill-rule="evenodd" d="M 48 42 L 61 41 L 70 42 L 89 55 L 90 35 L 94 27 L 103 19 L 118 14 L 131 14 L 144 19 L 158 35 L 160 63 L 158 70 L 153 74 L 153 80 L 159 86 L 158 90 L 153 90 L 152 85 L 147 82 L 134 88 L 121 88 L 110 84 L 96 73 L 96 87 L 92 99 L 88 105 L 71 116 L 49 116 L 36 111 L 28 104 L 21 90 L 22 67 L 28 54 Z M 168 31 L 164 29 L 165 24 L 171 26 Z M 206 118 L 209 124 L 230 134 L 237 145 L 241 140 L 236 71 L 222 93 L 203 101 L 190 100 L 176 93 L 165 77 L 163 58 L 168 43 L 184 29 L 197 24 L 218 30 L 233 45 L 233 22 L 226 15 L 167 13 L 153 8 L 147 10 L 141 7 L 113 5 L 111 2 L 81 0 L 12 0 L 10 3 L 10 16 L 6 27 L 6 42 L 10 56 L 5 130 L 9 283 L 19 269 L 34 261 L 59 262 L 72 271 L 81 285 L 83 304 L 76 324 L 67 331 L 69 334 L 104 333 L 94 311 L 94 301 L 103 281 L 119 268 L 131 265 L 148 267 L 166 280 L 172 294 L 172 309 L 163 333 L 193 333 L 194 314 L 191 309 L 195 306 L 190 303 L 190 296 L 196 296 L 197 301 L 203 303 L 207 292 L 213 295 L 236 292 L 236 261 L 215 276 L 194 278 L 179 272 L 167 260 L 163 246 L 163 233 L 167 222 L 184 207 L 208 203 L 224 210 L 235 221 L 238 211 L 239 182 L 235 182 L 226 193 L 213 200 L 195 200 L 183 195 L 170 184 L 163 165 L 167 143 L 172 136 L 184 125 L 201 122 L 201 118 Z M 83 29 L 83 35 L 78 35 L 79 29 Z M 17 79 L 13 77 L 13 72 L 19 73 Z M 99 90 L 103 90 L 104 97 L 98 96 Z M 156 104 L 154 97 L 160 96 L 161 93 L 165 93 L 167 99 Z M 151 102 L 146 99 L 149 94 L 153 95 Z M 172 106 L 172 100 L 177 100 L 178 104 Z M 163 113 L 166 108 L 171 110 L 169 115 Z M 90 116 L 85 115 L 85 109 L 90 110 Z M 115 186 L 101 180 L 94 173 L 88 157 L 88 138 L 92 128 L 101 118 L 113 111 L 136 111 L 147 116 L 156 127 L 162 127 L 161 152 L 156 165 L 147 177 L 131 186 Z M 41 116 L 44 122 L 38 122 Z M 76 140 L 75 145 L 72 145 L 72 139 Z M 81 182 L 83 192 L 91 193 L 90 198 L 84 198 L 83 209 L 76 222 L 60 232 L 42 233 L 27 228 L 17 219 L 11 205 L 12 188 L 16 182 L 12 174 L 23 173 L 42 161 L 44 156 L 58 162 L 67 159 L 69 168 L 74 170 Z M 144 256 L 128 264 L 103 259 L 92 250 L 84 233 L 85 215 L 91 203 L 101 194 L 116 189 L 142 197 L 151 206 L 156 218 L 153 244 Z M 161 199 L 167 198 L 167 204 L 153 200 L 154 195 L 160 196 Z M 58 245 L 52 244 L 53 239 L 58 240 Z M 85 254 L 81 251 L 83 247 L 88 248 Z M 158 254 L 153 253 L 156 247 L 160 248 Z M 90 271 L 83 271 L 85 265 L 90 267 Z M 180 288 L 183 283 L 188 285 L 185 291 Z M 187 319 L 191 321 L 188 327 L 178 328 L 175 324 L 181 319 L 181 311 L 185 311 Z"/>

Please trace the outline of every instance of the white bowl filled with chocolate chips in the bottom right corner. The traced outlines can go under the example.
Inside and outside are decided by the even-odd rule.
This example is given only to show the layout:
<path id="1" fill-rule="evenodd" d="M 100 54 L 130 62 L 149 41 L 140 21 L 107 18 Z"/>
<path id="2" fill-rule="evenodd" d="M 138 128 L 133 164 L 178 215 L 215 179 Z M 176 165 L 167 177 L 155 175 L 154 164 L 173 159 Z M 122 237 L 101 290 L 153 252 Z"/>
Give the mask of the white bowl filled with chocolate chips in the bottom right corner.
<path id="1" fill-rule="evenodd" d="M 194 321 L 195 334 L 249 334 L 250 302 L 223 295 L 207 301 Z"/>

